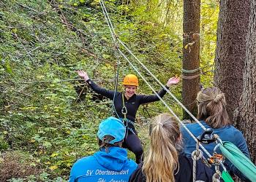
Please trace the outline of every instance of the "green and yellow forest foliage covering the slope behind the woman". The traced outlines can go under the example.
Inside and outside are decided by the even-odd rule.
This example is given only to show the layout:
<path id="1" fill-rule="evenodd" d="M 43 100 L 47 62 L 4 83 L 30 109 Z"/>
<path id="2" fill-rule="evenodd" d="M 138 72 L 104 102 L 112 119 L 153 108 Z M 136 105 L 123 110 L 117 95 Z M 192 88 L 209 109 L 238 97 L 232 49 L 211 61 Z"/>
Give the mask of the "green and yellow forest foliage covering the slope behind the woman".
<path id="1" fill-rule="evenodd" d="M 105 1 L 119 38 L 165 83 L 181 73 L 182 4 L 158 4 Z M 79 81 L 63 81 L 78 79 L 75 70 L 85 69 L 91 78 L 107 80 L 101 82 L 103 87 L 114 87 L 108 79 L 115 77 L 117 56 L 99 1 L 4 0 L 0 7 L 0 150 L 26 151 L 29 156 L 24 158 L 32 156 L 42 167 L 37 174 L 10 181 L 67 180 L 78 158 L 97 151 L 97 126 L 110 114 L 110 106 L 102 104 L 105 100 L 95 102 L 91 92 L 79 100 Z M 213 0 L 203 1 L 201 67 L 213 63 L 217 9 Z M 135 72 L 119 59 L 119 79 Z M 209 84 L 211 78 L 203 76 L 203 82 Z M 171 91 L 181 100 L 180 84 Z M 139 92 L 151 93 L 142 79 Z M 181 116 L 181 108 L 170 97 L 165 100 Z M 148 141 L 148 118 L 163 111 L 159 102 L 140 108 L 137 127 L 143 144 Z"/>

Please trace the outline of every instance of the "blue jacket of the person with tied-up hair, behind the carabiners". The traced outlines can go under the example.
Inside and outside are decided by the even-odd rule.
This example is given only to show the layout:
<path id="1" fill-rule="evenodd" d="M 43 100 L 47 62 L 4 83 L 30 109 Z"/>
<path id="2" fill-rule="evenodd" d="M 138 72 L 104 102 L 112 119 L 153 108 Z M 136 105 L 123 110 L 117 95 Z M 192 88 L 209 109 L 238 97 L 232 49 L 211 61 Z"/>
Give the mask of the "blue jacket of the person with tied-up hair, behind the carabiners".
<path id="1" fill-rule="evenodd" d="M 206 128 L 210 128 L 208 124 L 206 124 L 206 122 L 200 122 Z M 192 134 L 195 135 L 195 137 L 203 133 L 202 127 L 200 127 L 199 124 L 197 123 L 186 124 L 186 126 L 192 132 Z M 246 145 L 246 141 L 244 139 L 244 135 L 241 133 L 241 131 L 237 130 L 236 127 L 233 127 L 232 125 L 227 125 L 225 127 L 215 129 L 213 128 L 212 130 L 214 131 L 214 134 L 219 135 L 219 138 L 221 138 L 222 141 L 230 141 L 231 143 L 236 145 L 238 149 L 240 149 L 246 155 L 246 157 L 249 157 L 249 151 Z M 191 157 L 192 151 L 195 151 L 195 140 L 189 135 L 189 133 L 187 132 L 187 130 L 184 129 L 184 127 L 181 127 L 181 133 L 184 138 L 184 153 L 187 156 Z M 213 154 L 216 143 L 203 144 L 203 146 L 210 154 Z M 217 149 L 217 153 L 221 154 L 221 151 Z M 208 158 L 208 156 L 205 153 L 203 155 L 204 157 L 206 157 L 206 159 Z M 245 179 L 244 175 L 241 174 L 241 172 L 227 159 L 225 159 L 225 165 L 228 171 L 235 173 L 241 179 Z"/>

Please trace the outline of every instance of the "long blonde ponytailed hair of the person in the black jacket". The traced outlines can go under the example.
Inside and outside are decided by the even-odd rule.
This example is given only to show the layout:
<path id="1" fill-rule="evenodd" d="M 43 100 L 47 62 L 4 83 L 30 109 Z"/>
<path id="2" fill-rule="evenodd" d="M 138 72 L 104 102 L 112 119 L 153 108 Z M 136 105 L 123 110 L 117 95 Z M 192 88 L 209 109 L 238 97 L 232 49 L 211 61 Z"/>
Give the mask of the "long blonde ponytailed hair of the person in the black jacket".
<path id="1" fill-rule="evenodd" d="M 178 122 L 170 114 L 156 116 L 151 124 L 150 146 L 143 163 L 147 182 L 175 181 L 178 169 L 176 142 L 180 137 Z"/>

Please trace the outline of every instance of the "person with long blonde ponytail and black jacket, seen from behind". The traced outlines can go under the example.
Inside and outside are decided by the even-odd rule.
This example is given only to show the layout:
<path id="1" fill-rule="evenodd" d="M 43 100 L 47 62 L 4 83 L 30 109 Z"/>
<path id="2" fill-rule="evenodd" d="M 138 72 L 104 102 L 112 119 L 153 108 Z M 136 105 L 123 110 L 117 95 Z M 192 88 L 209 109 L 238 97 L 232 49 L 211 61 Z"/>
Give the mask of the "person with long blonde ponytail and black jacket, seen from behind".
<path id="1" fill-rule="evenodd" d="M 191 182 L 193 162 L 182 152 L 181 131 L 170 114 L 156 116 L 150 126 L 150 143 L 144 162 L 129 178 L 129 182 Z M 200 160 L 196 166 L 197 181 L 212 181 L 214 171 Z"/>

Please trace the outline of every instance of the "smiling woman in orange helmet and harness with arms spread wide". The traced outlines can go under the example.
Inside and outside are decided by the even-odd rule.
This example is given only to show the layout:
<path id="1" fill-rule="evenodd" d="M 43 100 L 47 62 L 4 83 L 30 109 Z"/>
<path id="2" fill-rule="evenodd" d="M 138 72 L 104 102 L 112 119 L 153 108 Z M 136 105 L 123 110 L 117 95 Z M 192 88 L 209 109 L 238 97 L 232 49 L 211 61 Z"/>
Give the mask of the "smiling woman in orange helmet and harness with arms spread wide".
<path id="1" fill-rule="evenodd" d="M 134 74 L 128 74 L 124 77 L 123 86 L 124 92 L 115 92 L 114 90 L 106 90 L 99 87 L 91 79 L 85 71 L 77 71 L 80 78 L 84 79 L 94 92 L 113 100 L 114 108 L 116 110 L 116 117 L 123 119 L 127 126 L 127 137 L 124 139 L 123 147 L 132 151 L 136 156 L 136 162 L 139 163 L 143 154 L 143 148 L 135 130 L 135 116 L 138 108 L 143 103 L 151 103 L 159 100 L 157 95 L 137 95 L 138 77 Z M 171 84 L 177 84 L 178 77 L 172 77 L 168 80 L 166 88 L 169 89 Z M 162 98 L 166 90 L 162 88 L 158 95 Z M 126 113 L 126 114 L 125 114 Z"/>

